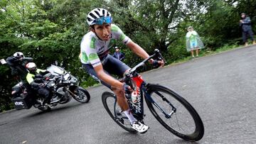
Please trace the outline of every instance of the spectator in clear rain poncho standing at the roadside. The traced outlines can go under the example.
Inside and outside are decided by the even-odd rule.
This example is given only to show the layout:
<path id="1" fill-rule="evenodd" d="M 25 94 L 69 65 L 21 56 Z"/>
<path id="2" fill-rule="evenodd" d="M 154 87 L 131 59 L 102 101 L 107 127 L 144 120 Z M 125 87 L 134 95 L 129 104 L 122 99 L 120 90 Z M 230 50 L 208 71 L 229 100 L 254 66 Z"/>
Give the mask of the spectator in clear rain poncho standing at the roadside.
<path id="1" fill-rule="evenodd" d="M 202 48 L 204 48 L 203 42 L 198 33 L 193 30 L 192 26 L 189 26 L 188 33 L 186 33 L 186 49 L 191 51 L 192 57 L 195 57 L 193 51 L 196 50 L 196 57 L 198 57 L 199 49 Z"/>

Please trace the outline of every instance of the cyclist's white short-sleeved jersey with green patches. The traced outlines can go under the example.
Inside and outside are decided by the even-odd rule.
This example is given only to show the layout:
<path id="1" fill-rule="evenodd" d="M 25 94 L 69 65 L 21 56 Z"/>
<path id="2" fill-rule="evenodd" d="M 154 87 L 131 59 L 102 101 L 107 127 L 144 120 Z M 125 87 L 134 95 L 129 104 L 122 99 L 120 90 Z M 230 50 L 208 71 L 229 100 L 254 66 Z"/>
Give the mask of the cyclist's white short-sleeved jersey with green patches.
<path id="1" fill-rule="evenodd" d="M 83 64 L 91 64 L 92 67 L 100 65 L 100 57 L 108 54 L 110 48 L 113 47 L 113 40 L 121 40 L 122 43 L 127 44 L 130 38 L 124 35 L 122 30 L 114 24 L 111 24 L 110 40 L 100 40 L 92 31 L 85 34 L 80 44 L 80 61 Z"/>

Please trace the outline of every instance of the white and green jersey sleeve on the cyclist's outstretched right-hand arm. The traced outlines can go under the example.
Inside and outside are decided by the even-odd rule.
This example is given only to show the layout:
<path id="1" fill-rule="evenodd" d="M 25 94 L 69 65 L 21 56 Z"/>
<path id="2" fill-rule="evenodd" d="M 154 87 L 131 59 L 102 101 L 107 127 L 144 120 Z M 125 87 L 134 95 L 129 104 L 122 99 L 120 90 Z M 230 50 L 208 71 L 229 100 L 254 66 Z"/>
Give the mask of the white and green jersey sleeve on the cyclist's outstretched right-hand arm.
<path id="1" fill-rule="evenodd" d="M 115 24 L 112 24 L 111 31 L 115 39 L 121 40 L 125 45 L 131 41 L 131 39 L 125 35 L 122 30 Z"/>

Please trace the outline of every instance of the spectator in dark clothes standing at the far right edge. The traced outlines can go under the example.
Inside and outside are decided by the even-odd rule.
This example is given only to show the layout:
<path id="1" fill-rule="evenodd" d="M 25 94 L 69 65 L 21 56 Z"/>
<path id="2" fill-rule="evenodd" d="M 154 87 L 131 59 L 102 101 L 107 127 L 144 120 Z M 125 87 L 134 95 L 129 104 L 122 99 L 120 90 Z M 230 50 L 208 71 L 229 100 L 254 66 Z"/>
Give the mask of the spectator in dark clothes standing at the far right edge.
<path id="1" fill-rule="evenodd" d="M 250 35 L 250 39 L 253 41 L 253 44 L 256 44 L 255 40 L 253 39 L 250 17 L 246 16 L 245 13 L 241 13 L 241 20 L 239 26 L 242 28 L 242 41 L 243 43 L 245 43 L 245 46 L 248 45 L 247 35 Z"/>

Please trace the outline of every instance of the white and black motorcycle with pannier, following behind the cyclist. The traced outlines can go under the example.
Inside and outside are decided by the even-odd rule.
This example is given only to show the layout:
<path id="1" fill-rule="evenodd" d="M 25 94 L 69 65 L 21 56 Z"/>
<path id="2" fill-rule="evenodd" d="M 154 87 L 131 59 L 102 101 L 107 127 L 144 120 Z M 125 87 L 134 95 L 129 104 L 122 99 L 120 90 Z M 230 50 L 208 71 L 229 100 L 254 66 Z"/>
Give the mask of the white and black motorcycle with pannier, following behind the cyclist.
<path id="1" fill-rule="evenodd" d="M 23 60 L 26 60 L 26 58 Z M 1 63 L 8 64 L 8 62 L 4 62 L 3 59 Z M 22 65 L 20 66 L 22 67 Z M 43 75 L 41 79 L 45 87 L 50 91 L 50 103 L 45 103 L 44 101 L 46 101 L 46 99 L 44 99 L 43 96 L 37 94 L 37 92 L 31 88 L 30 84 L 20 79 L 20 82 L 12 87 L 11 92 L 11 101 L 13 101 L 16 109 L 31 109 L 31 107 L 34 106 L 41 111 L 49 111 L 53 106 L 68 103 L 72 97 L 82 104 L 90 101 L 89 92 L 79 87 L 78 79 L 70 74 L 70 72 L 55 65 L 50 65 L 46 70 L 48 74 Z M 53 101 L 53 98 L 56 96 L 58 96 L 59 100 Z"/>

